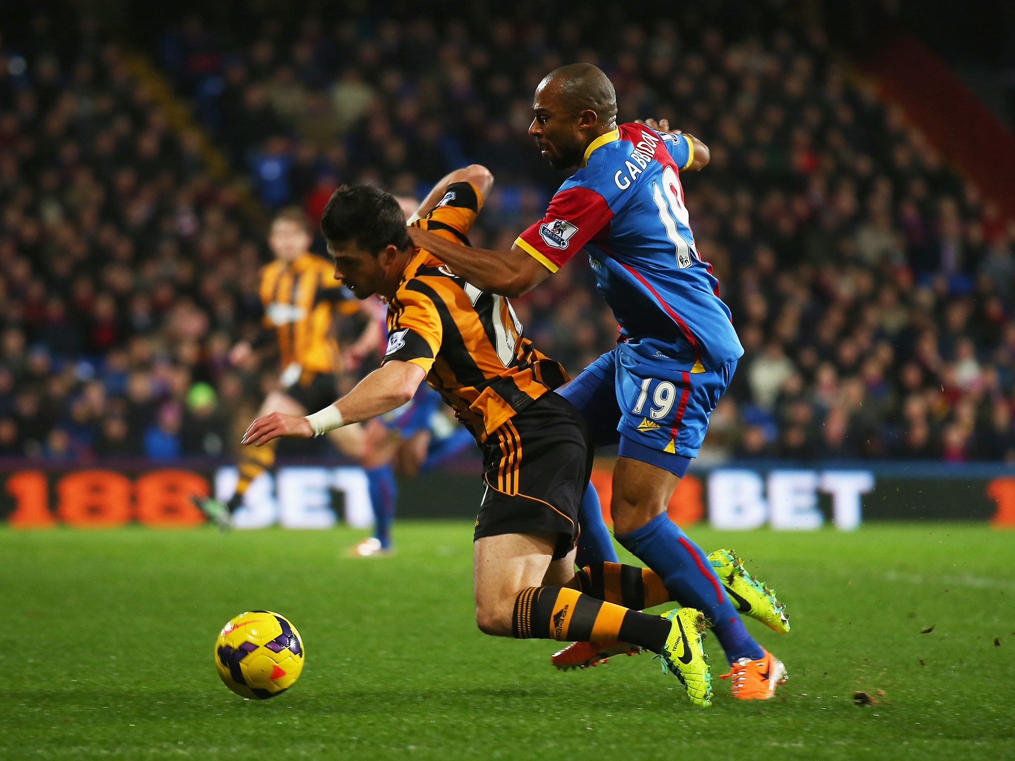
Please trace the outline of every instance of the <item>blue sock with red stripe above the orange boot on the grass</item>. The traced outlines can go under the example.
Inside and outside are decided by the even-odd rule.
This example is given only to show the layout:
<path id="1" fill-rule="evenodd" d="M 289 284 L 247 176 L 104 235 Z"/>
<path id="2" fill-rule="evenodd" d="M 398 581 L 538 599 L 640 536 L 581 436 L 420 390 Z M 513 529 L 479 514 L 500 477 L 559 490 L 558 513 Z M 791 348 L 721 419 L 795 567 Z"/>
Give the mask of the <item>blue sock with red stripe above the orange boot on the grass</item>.
<path id="1" fill-rule="evenodd" d="M 708 617 L 731 664 L 764 655 L 726 597 L 707 555 L 669 515 L 664 512 L 630 534 L 618 535 L 617 541 L 659 574 L 673 600 Z"/>

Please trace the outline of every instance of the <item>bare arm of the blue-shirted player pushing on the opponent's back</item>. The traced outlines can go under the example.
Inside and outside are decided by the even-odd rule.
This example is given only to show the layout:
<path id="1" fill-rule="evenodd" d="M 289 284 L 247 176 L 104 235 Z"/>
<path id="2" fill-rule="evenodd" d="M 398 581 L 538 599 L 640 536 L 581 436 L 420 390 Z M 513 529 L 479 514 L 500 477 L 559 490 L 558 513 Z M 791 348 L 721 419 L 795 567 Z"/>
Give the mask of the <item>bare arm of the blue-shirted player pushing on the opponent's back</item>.
<path id="1" fill-rule="evenodd" d="M 473 249 L 418 227 L 409 228 L 409 237 L 414 246 L 426 249 L 456 275 L 487 293 L 498 293 L 509 298 L 521 296 L 550 274 L 546 267 L 518 246 L 513 246 L 511 251 Z"/>

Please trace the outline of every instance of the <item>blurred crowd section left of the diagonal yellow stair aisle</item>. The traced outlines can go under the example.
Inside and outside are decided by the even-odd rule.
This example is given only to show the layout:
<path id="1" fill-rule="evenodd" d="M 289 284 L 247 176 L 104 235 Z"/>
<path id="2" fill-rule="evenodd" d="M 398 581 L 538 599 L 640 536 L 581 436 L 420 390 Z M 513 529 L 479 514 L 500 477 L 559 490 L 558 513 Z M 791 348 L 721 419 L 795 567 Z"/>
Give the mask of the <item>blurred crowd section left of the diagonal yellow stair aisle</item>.
<path id="1" fill-rule="evenodd" d="M 234 194 L 92 24 L 2 31 L 0 456 L 222 453 L 263 258 Z"/>

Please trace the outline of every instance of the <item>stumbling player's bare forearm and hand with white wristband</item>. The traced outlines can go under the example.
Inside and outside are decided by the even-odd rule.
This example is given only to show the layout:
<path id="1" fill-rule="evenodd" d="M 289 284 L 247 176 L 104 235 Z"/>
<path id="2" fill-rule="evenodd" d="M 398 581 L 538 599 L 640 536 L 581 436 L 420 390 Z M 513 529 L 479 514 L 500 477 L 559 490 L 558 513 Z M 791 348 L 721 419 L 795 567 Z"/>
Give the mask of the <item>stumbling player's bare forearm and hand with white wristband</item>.
<path id="1" fill-rule="evenodd" d="M 356 384 L 335 404 L 313 415 L 272 412 L 259 417 L 244 433 L 242 443 L 260 446 L 279 436 L 312 438 L 398 409 L 412 399 L 426 373 L 413 362 L 390 361 Z"/>

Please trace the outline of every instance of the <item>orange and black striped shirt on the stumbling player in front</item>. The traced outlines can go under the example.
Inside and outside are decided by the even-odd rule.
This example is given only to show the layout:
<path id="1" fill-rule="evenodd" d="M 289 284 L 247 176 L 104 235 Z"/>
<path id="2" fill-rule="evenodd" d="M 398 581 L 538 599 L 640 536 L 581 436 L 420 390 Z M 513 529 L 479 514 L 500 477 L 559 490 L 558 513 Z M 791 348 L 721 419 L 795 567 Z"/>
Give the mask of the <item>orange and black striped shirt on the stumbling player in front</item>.
<path id="1" fill-rule="evenodd" d="M 453 183 L 416 226 L 468 244 L 482 197 L 470 183 Z M 418 364 L 477 441 L 548 391 L 567 380 L 558 362 L 523 336 L 506 298 L 456 277 L 421 249 L 388 306 L 385 361 Z"/>

